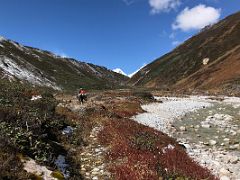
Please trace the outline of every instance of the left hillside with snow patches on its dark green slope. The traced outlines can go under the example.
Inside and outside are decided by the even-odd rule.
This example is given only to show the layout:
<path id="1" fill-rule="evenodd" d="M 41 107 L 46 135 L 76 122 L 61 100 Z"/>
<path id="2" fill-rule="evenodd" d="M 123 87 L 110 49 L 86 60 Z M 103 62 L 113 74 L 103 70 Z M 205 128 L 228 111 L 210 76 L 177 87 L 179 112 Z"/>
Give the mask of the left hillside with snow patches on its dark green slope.
<path id="1" fill-rule="evenodd" d="M 54 89 L 102 89 L 123 86 L 128 77 L 105 67 L 63 58 L 0 37 L 0 74 L 10 80 Z"/>

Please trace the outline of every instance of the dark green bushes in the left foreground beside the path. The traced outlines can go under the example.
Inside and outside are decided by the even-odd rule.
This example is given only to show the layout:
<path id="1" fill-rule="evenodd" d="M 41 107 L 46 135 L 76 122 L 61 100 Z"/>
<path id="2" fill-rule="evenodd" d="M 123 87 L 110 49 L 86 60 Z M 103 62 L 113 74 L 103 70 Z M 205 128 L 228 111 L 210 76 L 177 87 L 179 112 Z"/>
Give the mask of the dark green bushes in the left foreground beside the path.
<path id="1" fill-rule="evenodd" d="M 41 98 L 31 100 L 37 95 Z M 57 112 L 57 104 L 49 90 L 0 80 L 0 147 L 8 149 L 5 152 L 0 148 L 1 178 L 29 179 L 31 175 L 23 171 L 18 153 L 53 169 L 59 154 L 71 159 L 64 144 L 73 143 L 73 139 L 64 139 L 62 130 L 74 126 L 73 116 Z M 81 131 L 78 133 L 75 139 L 82 145 Z M 71 163 L 75 167 L 75 162 Z M 80 177 L 77 171 L 70 171 Z"/>

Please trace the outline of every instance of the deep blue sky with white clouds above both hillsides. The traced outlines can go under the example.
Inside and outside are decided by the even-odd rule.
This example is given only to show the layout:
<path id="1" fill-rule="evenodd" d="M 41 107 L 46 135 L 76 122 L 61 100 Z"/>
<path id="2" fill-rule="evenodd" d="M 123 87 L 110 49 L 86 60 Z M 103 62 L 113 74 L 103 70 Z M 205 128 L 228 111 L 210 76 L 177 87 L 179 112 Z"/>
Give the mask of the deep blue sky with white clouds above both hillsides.
<path id="1" fill-rule="evenodd" d="M 0 0 L 0 5 L 0 35 L 127 74 L 240 10 L 238 0 Z"/>

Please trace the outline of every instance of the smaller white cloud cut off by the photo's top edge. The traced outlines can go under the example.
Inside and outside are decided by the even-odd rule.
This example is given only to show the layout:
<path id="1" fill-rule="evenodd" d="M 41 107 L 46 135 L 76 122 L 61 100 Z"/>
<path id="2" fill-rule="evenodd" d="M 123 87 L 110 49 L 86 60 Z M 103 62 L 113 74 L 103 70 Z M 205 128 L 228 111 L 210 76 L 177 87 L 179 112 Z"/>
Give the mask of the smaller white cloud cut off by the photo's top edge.
<path id="1" fill-rule="evenodd" d="M 180 0 L 149 0 L 152 14 L 168 12 L 172 9 L 176 9 L 180 4 Z"/>

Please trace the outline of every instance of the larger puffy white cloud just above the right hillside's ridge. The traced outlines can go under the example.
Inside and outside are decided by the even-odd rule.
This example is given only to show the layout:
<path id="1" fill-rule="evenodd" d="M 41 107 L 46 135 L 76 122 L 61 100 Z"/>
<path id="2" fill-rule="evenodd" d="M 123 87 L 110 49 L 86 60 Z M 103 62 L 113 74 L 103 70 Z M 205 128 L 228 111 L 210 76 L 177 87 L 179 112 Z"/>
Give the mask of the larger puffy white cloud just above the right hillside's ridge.
<path id="1" fill-rule="evenodd" d="M 202 29 L 207 25 L 216 23 L 221 15 L 221 9 L 207 7 L 204 4 L 189 9 L 186 7 L 172 24 L 173 29 L 183 31 Z"/>

